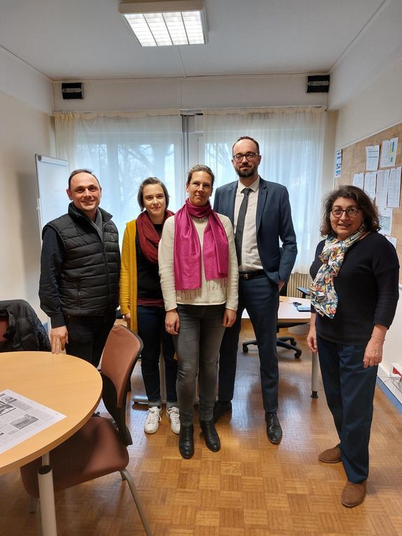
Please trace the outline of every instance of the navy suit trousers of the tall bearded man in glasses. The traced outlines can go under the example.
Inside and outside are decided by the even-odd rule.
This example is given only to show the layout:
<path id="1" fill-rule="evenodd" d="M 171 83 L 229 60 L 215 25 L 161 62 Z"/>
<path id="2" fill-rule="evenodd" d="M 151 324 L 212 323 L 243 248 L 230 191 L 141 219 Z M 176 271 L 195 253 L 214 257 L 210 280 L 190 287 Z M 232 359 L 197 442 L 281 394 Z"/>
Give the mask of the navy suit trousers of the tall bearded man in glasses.
<path id="1" fill-rule="evenodd" d="M 266 412 L 278 409 L 278 354 L 276 353 L 276 322 L 278 320 L 279 288 L 266 276 L 239 279 L 239 307 L 236 322 L 225 330 L 219 357 L 218 399 L 233 398 L 237 348 L 244 309 L 253 325 L 260 357 L 262 403 Z"/>

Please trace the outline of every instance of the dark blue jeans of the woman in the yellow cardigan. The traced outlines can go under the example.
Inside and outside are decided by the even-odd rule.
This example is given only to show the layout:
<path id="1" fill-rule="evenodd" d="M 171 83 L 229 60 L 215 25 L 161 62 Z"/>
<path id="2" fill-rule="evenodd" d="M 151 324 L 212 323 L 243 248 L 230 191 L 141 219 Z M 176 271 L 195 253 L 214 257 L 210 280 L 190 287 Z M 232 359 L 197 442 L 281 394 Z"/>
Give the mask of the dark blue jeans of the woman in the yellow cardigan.
<path id="1" fill-rule="evenodd" d="M 149 405 L 161 405 L 161 378 L 159 356 L 161 343 L 165 361 L 166 403 L 168 407 L 177 404 L 176 376 L 177 361 L 174 359 L 172 336 L 165 331 L 165 310 L 163 307 L 137 305 L 138 335 L 144 349 L 141 352 L 141 372 Z"/>

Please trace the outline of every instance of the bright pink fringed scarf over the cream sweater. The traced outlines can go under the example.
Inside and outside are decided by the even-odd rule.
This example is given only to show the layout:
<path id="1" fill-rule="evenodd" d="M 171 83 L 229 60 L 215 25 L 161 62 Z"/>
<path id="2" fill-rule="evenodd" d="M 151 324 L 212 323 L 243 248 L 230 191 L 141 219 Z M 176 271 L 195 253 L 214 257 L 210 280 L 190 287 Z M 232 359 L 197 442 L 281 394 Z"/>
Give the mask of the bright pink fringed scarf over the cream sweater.
<path id="1" fill-rule="evenodd" d="M 194 207 L 187 199 L 174 216 L 174 284 L 176 290 L 201 288 L 201 245 L 191 216 L 208 218 L 202 260 L 207 281 L 227 279 L 229 245 L 225 228 L 209 202 Z"/>

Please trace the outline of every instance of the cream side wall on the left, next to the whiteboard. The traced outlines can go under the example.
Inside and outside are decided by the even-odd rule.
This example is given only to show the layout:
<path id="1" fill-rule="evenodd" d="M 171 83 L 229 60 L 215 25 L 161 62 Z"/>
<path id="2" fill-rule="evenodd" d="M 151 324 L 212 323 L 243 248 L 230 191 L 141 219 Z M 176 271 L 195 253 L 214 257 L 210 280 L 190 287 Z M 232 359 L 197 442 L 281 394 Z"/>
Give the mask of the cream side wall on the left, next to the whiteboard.
<path id="1" fill-rule="evenodd" d="M 0 117 L 0 299 L 26 299 L 45 320 L 38 301 L 40 230 L 34 155 L 54 156 L 52 119 L 3 93 Z"/>

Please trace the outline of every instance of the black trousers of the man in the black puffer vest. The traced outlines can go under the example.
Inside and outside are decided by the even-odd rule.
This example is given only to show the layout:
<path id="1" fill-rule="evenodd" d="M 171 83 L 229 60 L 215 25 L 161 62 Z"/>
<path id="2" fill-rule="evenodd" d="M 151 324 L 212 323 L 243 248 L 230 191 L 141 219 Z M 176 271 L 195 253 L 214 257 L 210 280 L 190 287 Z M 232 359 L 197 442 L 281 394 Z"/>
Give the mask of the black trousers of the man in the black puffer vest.
<path id="1" fill-rule="evenodd" d="M 68 316 L 65 318 L 68 331 L 66 352 L 98 366 L 110 329 L 116 320 L 116 311 L 104 316 Z"/>

